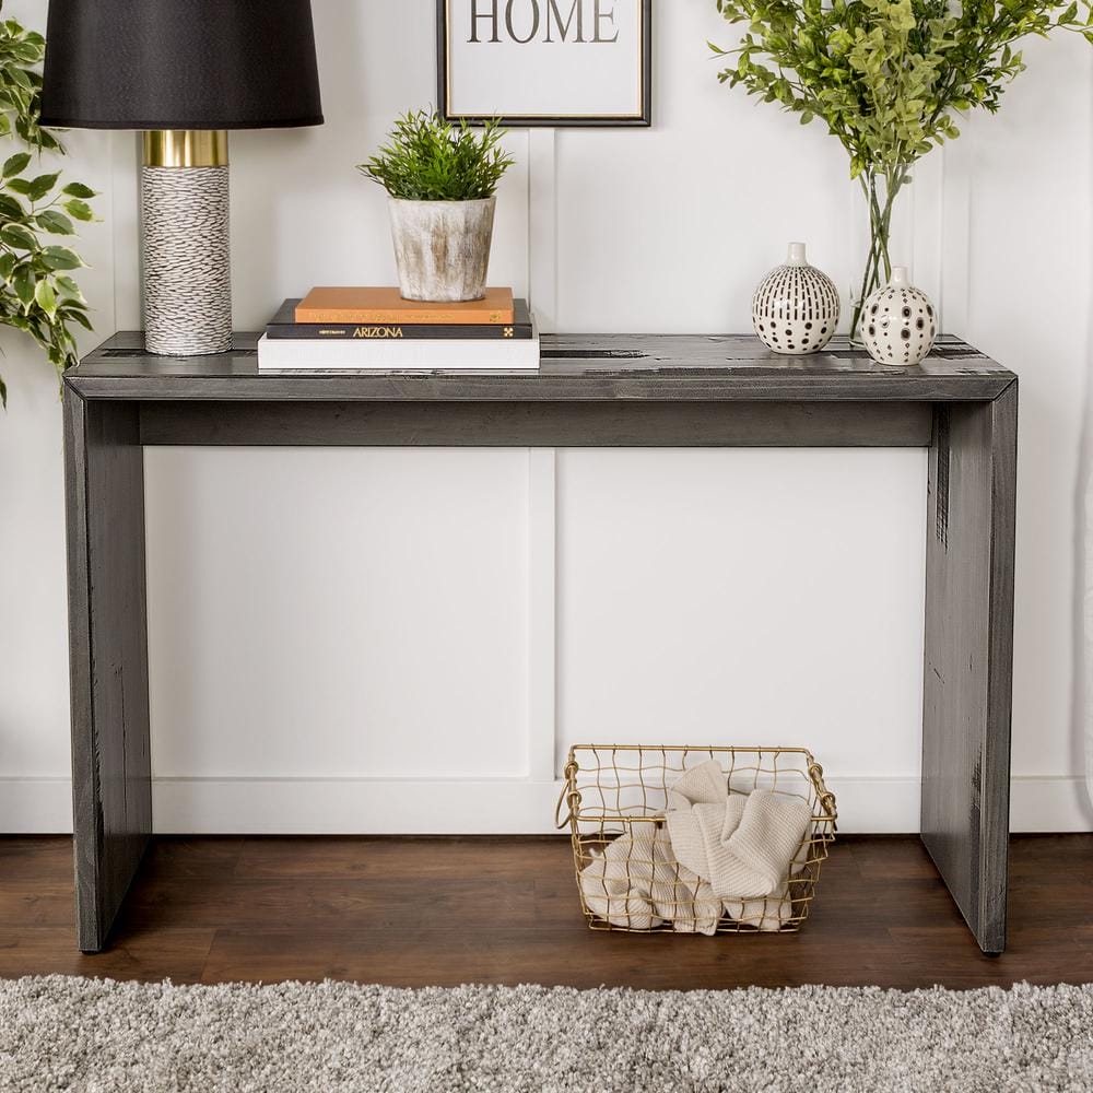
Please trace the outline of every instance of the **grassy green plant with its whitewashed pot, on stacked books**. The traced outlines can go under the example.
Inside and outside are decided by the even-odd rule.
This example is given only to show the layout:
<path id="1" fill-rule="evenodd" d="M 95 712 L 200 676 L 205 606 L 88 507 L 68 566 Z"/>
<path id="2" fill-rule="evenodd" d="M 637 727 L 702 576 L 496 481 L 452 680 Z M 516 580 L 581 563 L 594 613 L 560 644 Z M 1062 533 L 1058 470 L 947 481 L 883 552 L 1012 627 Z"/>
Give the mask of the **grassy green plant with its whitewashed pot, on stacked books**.
<path id="1" fill-rule="evenodd" d="M 388 143 L 357 169 L 390 198 L 391 238 L 407 299 L 481 299 L 497 183 L 515 162 L 494 119 L 475 131 L 427 110 L 395 122 Z"/>

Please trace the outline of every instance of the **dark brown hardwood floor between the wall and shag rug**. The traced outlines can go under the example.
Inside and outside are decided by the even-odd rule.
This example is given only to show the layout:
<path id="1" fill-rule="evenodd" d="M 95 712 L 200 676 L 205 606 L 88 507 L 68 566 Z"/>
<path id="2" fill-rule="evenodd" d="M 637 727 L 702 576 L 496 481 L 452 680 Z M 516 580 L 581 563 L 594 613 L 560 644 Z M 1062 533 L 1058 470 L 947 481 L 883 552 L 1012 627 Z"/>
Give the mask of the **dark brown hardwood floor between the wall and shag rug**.
<path id="1" fill-rule="evenodd" d="M 75 950 L 71 842 L 0 838 L 0 976 L 902 988 L 1093 982 L 1093 835 L 1012 842 L 984 956 L 916 838 L 843 837 L 798 935 L 593 932 L 567 838 L 161 838 L 107 952 Z"/>

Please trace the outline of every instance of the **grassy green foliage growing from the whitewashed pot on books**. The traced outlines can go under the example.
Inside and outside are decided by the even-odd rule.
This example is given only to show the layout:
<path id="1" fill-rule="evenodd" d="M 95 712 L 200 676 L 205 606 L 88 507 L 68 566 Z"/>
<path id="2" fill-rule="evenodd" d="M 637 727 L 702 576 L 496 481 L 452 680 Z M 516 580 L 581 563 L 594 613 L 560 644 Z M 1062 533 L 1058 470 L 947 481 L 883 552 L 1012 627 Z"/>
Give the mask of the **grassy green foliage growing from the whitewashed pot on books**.
<path id="1" fill-rule="evenodd" d="M 395 122 L 387 143 L 357 165 L 392 198 L 407 201 L 475 201 L 493 197 L 515 163 L 501 146 L 505 130 L 496 119 L 481 131 L 458 126 L 430 110 L 410 110 Z"/>

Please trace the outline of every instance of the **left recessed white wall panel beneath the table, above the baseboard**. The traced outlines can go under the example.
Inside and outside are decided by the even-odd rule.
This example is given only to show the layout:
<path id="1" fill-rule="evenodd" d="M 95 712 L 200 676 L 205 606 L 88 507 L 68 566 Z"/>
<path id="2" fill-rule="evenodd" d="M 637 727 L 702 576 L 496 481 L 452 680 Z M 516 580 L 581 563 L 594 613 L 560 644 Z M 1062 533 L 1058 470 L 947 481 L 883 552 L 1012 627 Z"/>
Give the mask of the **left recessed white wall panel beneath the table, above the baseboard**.
<path id="1" fill-rule="evenodd" d="M 527 776 L 526 449 L 145 460 L 157 777 Z"/>

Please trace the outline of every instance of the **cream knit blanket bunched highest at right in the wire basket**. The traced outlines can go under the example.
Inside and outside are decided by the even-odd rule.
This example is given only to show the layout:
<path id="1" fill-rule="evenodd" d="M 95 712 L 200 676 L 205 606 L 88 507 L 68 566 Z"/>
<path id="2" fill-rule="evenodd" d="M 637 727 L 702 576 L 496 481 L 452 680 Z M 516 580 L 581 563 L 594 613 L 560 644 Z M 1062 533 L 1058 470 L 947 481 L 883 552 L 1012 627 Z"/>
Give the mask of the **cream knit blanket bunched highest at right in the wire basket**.
<path id="1" fill-rule="evenodd" d="M 790 865 L 811 818 L 801 797 L 769 789 L 730 794 L 716 760 L 692 767 L 668 791 L 675 859 L 733 904 L 774 896 L 769 903 L 776 905 L 785 898 Z"/>

